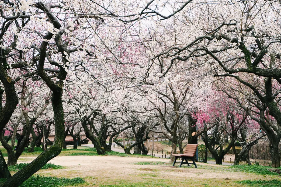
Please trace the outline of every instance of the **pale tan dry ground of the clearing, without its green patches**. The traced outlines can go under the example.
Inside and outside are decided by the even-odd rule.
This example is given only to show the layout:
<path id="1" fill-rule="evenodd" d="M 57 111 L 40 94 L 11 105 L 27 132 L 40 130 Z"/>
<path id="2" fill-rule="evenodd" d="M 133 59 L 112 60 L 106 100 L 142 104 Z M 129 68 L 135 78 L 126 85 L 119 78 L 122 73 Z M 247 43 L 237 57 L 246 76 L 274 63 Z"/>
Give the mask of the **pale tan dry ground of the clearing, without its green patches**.
<path id="1" fill-rule="evenodd" d="M 35 157 L 21 157 L 20 162 L 31 162 Z M 79 187 L 186 187 L 186 186 L 249 186 L 240 180 L 272 180 L 278 175 L 256 175 L 234 172 L 228 166 L 198 163 L 198 168 L 170 165 L 136 165 L 137 162 L 168 159 L 119 156 L 57 156 L 50 163 L 64 166 L 60 170 L 39 170 L 36 174 L 56 177 L 83 177 L 86 183 Z"/>

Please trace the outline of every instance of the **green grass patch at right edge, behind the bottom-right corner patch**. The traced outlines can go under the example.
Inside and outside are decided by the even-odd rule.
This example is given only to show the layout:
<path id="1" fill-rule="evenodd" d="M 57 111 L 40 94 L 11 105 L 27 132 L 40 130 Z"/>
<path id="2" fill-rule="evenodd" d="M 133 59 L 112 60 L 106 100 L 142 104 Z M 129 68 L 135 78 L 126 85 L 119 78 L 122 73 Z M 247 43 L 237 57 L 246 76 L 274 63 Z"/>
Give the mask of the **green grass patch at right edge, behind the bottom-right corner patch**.
<path id="1" fill-rule="evenodd" d="M 259 175 L 281 175 L 281 168 L 272 168 L 262 165 L 234 165 L 230 166 L 236 171 L 243 171 L 247 173 L 254 173 Z"/>

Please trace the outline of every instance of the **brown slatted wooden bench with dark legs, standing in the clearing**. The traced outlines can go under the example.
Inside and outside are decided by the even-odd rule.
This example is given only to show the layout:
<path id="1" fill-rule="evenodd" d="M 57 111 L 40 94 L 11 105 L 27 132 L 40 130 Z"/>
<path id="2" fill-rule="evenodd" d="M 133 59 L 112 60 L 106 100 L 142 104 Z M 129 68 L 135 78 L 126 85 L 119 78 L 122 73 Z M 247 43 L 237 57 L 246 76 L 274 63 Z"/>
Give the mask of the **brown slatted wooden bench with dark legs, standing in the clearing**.
<path id="1" fill-rule="evenodd" d="M 175 166 L 177 159 L 181 158 L 180 167 L 183 164 L 187 164 L 188 166 L 190 166 L 190 164 L 192 164 L 192 165 L 195 165 L 195 168 L 197 168 L 197 165 L 194 161 L 194 156 L 195 156 L 197 147 L 198 147 L 198 144 L 187 144 L 185 147 L 184 154 L 172 154 L 173 156 L 175 156 L 175 161 L 174 161 L 173 166 Z M 193 161 L 193 163 L 188 163 L 187 159 L 191 159 Z M 185 162 L 184 162 L 184 160 L 185 160 Z"/>

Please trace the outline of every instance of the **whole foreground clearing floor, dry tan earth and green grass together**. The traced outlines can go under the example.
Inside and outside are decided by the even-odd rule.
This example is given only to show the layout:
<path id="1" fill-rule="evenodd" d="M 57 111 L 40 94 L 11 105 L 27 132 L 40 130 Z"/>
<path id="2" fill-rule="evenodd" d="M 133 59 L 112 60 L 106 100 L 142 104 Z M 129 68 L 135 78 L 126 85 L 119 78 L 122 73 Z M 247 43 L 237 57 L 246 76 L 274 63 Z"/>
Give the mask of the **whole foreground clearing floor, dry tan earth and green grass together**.
<path id="1" fill-rule="evenodd" d="M 98 156 L 96 150 L 78 147 L 66 149 L 50 162 L 61 167 L 39 170 L 25 186 L 76 187 L 280 187 L 281 168 L 259 165 L 222 166 L 197 163 L 172 167 L 169 159 L 111 152 Z M 4 154 L 7 154 L 0 148 Z M 28 163 L 42 150 L 25 151 L 19 163 Z M 12 174 L 14 174 L 12 172 Z M 38 175 L 38 176 L 37 176 Z M 59 177 L 59 178 L 56 178 Z"/>

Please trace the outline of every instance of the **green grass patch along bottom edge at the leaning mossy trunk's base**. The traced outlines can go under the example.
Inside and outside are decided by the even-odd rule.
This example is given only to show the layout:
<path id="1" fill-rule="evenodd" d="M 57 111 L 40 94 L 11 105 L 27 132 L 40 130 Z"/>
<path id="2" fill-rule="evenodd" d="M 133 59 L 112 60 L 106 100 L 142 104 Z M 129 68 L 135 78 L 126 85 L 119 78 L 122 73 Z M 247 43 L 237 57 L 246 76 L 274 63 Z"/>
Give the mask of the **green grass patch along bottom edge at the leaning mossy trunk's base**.
<path id="1" fill-rule="evenodd" d="M 0 179 L 0 186 L 1 183 L 5 182 L 5 179 Z M 78 184 L 85 183 L 85 180 L 81 177 L 67 179 L 67 178 L 57 178 L 57 177 L 44 177 L 37 175 L 30 177 L 25 182 L 22 183 L 19 187 L 33 187 L 33 186 L 40 186 L 40 187 L 59 187 L 59 186 L 75 186 Z"/>

